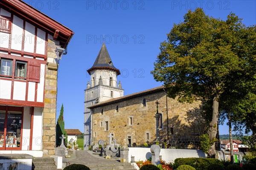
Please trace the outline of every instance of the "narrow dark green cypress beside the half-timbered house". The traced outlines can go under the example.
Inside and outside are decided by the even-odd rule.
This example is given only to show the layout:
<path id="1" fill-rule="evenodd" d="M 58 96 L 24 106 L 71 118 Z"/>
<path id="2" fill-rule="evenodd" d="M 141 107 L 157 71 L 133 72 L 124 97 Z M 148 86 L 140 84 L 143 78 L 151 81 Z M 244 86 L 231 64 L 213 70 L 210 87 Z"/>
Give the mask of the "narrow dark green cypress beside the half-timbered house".
<path id="1" fill-rule="evenodd" d="M 67 131 L 65 130 L 65 123 L 63 119 L 63 113 L 64 113 L 64 108 L 63 104 L 61 106 L 61 112 L 57 120 L 57 125 L 56 125 L 56 146 L 61 145 L 61 139 L 60 136 L 63 134 L 66 139 L 64 139 L 64 145 L 67 144 Z"/>

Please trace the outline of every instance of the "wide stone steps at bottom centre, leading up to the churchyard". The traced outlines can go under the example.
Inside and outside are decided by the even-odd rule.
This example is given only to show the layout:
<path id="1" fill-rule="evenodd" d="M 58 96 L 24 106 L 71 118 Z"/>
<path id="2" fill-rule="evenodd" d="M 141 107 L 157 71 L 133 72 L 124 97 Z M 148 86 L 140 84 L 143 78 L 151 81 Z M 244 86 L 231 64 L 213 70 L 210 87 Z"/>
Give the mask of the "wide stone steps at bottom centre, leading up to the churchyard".
<path id="1" fill-rule="evenodd" d="M 120 163 L 116 162 L 116 164 L 86 164 L 90 170 L 136 170 L 131 163 Z"/>

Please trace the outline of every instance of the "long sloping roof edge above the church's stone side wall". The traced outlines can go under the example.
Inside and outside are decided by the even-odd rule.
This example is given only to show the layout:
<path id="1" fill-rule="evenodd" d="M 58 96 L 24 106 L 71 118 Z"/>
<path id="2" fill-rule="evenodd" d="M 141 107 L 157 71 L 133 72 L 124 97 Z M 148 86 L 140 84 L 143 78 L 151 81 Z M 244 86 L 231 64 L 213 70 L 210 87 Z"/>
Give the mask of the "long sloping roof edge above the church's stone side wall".
<path id="1" fill-rule="evenodd" d="M 109 99 L 109 100 L 104 101 L 104 102 L 99 102 L 99 103 L 97 103 L 95 105 L 92 105 L 88 108 L 90 108 L 90 109 L 99 108 L 101 106 L 110 105 L 110 104 L 117 103 L 117 102 L 122 102 L 124 100 L 133 99 L 133 98 L 138 97 L 138 96 L 144 96 L 144 95 L 147 95 L 147 94 L 156 93 L 158 91 L 163 91 L 164 88 L 165 87 L 162 85 L 162 86 L 159 86 L 159 87 L 156 87 L 156 88 L 151 88 L 151 89 L 148 89 L 148 90 L 145 90 L 145 91 L 140 91 L 140 92 L 137 92 L 137 93 L 134 93 L 134 94 L 129 94 L 129 95 L 126 95 L 126 96 Z"/>

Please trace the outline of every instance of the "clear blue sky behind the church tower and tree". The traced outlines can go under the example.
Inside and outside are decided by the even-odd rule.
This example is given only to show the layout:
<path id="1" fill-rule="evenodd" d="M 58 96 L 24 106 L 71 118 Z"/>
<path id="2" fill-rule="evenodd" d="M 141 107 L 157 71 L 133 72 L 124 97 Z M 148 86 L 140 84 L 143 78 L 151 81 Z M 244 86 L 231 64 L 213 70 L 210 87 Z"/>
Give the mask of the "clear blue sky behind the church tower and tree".
<path id="1" fill-rule="evenodd" d="M 105 37 L 113 64 L 121 72 L 125 95 L 162 85 L 150 71 L 160 42 L 174 23 L 196 7 L 226 20 L 230 12 L 247 26 L 256 24 L 255 0 L 25 0 L 26 3 L 72 29 L 75 34 L 58 72 L 57 118 L 64 105 L 65 128 L 84 131 L 84 89 L 87 69 L 95 61 Z M 220 134 L 227 134 L 227 125 Z"/>

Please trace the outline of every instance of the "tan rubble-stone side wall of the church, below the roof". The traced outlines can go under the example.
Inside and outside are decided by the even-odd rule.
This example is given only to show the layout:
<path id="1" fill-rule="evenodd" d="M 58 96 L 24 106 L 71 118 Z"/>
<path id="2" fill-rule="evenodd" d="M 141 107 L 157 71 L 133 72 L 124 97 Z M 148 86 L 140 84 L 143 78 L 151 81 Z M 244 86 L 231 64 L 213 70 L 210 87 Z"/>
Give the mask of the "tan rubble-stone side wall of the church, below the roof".
<path id="1" fill-rule="evenodd" d="M 143 106 L 143 99 L 146 106 Z M 93 140 L 108 141 L 113 133 L 117 143 L 143 145 L 147 141 L 156 141 L 156 101 L 158 111 L 162 113 L 163 128 L 160 130 L 160 142 L 167 140 L 166 93 L 158 91 L 139 96 L 116 104 L 109 104 L 93 109 Z M 201 102 L 179 103 L 176 99 L 167 99 L 169 118 L 169 143 L 173 147 L 187 148 L 199 145 L 198 136 L 207 127 L 200 113 Z M 118 105 L 118 111 L 116 106 Z M 103 114 L 102 114 L 103 109 Z M 132 125 L 131 125 L 132 120 Z M 108 127 L 106 127 L 108 125 Z M 148 133 L 148 134 L 147 134 Z M 149 138 L 149 139 L 147 139 Z M 108 142 L 107 142 L 108 143 Z"/>

